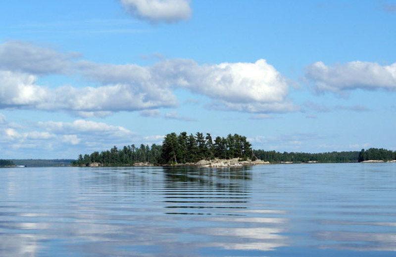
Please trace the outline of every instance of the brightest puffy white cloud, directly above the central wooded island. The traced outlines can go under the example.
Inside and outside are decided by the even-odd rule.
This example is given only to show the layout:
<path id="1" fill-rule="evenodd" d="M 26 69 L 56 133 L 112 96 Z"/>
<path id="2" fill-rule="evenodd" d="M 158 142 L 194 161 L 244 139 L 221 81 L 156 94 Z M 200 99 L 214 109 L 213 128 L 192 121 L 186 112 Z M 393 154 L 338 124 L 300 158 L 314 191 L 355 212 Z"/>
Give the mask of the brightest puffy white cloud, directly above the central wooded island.
<path id="1" fill-rule="evenodd" d="M 207 65 L 173 59 L 154 65 L 152 71 L 170 85 L 232 103 L 280 102 L 288 94 L 285 78 L 264 59 Z"/>

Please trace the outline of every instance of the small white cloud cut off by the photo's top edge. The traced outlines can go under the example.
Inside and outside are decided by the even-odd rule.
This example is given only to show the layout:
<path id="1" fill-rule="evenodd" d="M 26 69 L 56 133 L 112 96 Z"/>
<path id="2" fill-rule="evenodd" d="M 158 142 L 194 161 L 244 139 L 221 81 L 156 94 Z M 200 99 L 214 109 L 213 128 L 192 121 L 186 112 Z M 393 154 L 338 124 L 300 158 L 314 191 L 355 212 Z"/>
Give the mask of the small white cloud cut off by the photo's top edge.
<path id="1" fill-rule="evenodd" d="M 152 23 L 177 22 L 191 16 L 189 0 L 120 0 L 133 16 Z"/>

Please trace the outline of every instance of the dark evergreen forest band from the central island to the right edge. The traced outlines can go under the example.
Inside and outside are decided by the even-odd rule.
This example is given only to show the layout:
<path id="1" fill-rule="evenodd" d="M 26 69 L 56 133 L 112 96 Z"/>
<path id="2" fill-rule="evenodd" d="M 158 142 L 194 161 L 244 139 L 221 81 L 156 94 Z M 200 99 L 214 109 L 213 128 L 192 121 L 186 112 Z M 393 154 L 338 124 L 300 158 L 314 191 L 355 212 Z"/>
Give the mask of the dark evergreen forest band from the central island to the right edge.
<path id="1" fill-rule="evenodd" d="M 162 145 L 151 146 L 134 144 L 110 150 L 80 154 L 75 166 L 134 166 L 134 165 L 183 165 L 193 164 L 200 160 L 214 159 L 262 160 L 269 163 L 352 163 L 369 160 L 396 160 L 396 151 L 370 148 L 361 151 L 301 153 L 277 152 L 252 149 L 247 137 L 229 134 L 214 139 L 209 133 L 197 132 L 195 135 L 181 132 L 169 133 Z"/>

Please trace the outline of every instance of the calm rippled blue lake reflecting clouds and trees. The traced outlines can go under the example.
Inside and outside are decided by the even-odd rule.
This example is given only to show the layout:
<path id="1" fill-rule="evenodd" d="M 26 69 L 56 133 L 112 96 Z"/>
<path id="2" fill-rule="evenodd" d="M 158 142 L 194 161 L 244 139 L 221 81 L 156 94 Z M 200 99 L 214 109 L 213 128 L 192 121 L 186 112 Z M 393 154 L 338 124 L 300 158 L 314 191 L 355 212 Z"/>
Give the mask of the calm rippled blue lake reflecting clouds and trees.
<path id="1" fill-rule="evenodd" d="M 395 257 L 396 164 L 0 169 L 1 257 Z"/>

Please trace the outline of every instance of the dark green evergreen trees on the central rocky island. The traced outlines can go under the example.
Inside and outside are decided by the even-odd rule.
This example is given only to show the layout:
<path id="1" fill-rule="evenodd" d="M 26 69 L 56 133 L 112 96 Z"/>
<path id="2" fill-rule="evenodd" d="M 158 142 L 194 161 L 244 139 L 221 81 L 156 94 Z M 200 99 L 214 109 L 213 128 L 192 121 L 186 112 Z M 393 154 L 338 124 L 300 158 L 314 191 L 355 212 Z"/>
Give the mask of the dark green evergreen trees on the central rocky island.
<path id="1" fill-rule="evenodd" d="M 246 136 L 229 134 L 227 137 L 217 136 L 214 140 L 209 133 L 203 135 L 197 132 L 188 135 L 175 132 L 165 135 L 162 145 L 141 144 L 124 146 L 118 149 L 116 146 L 107 151 L 94 152 L 92 154 L 80 154 L 72 165 L 89 165 L 100 163 L 105 166 L 131 166 L 135 163 L 150 163 L 154 165 L 194 163 L 199 160 L 211 160 L 214 158 L 231 159 L 239 158 L 246 160 L 252 154 L 251 144 Z"/>

